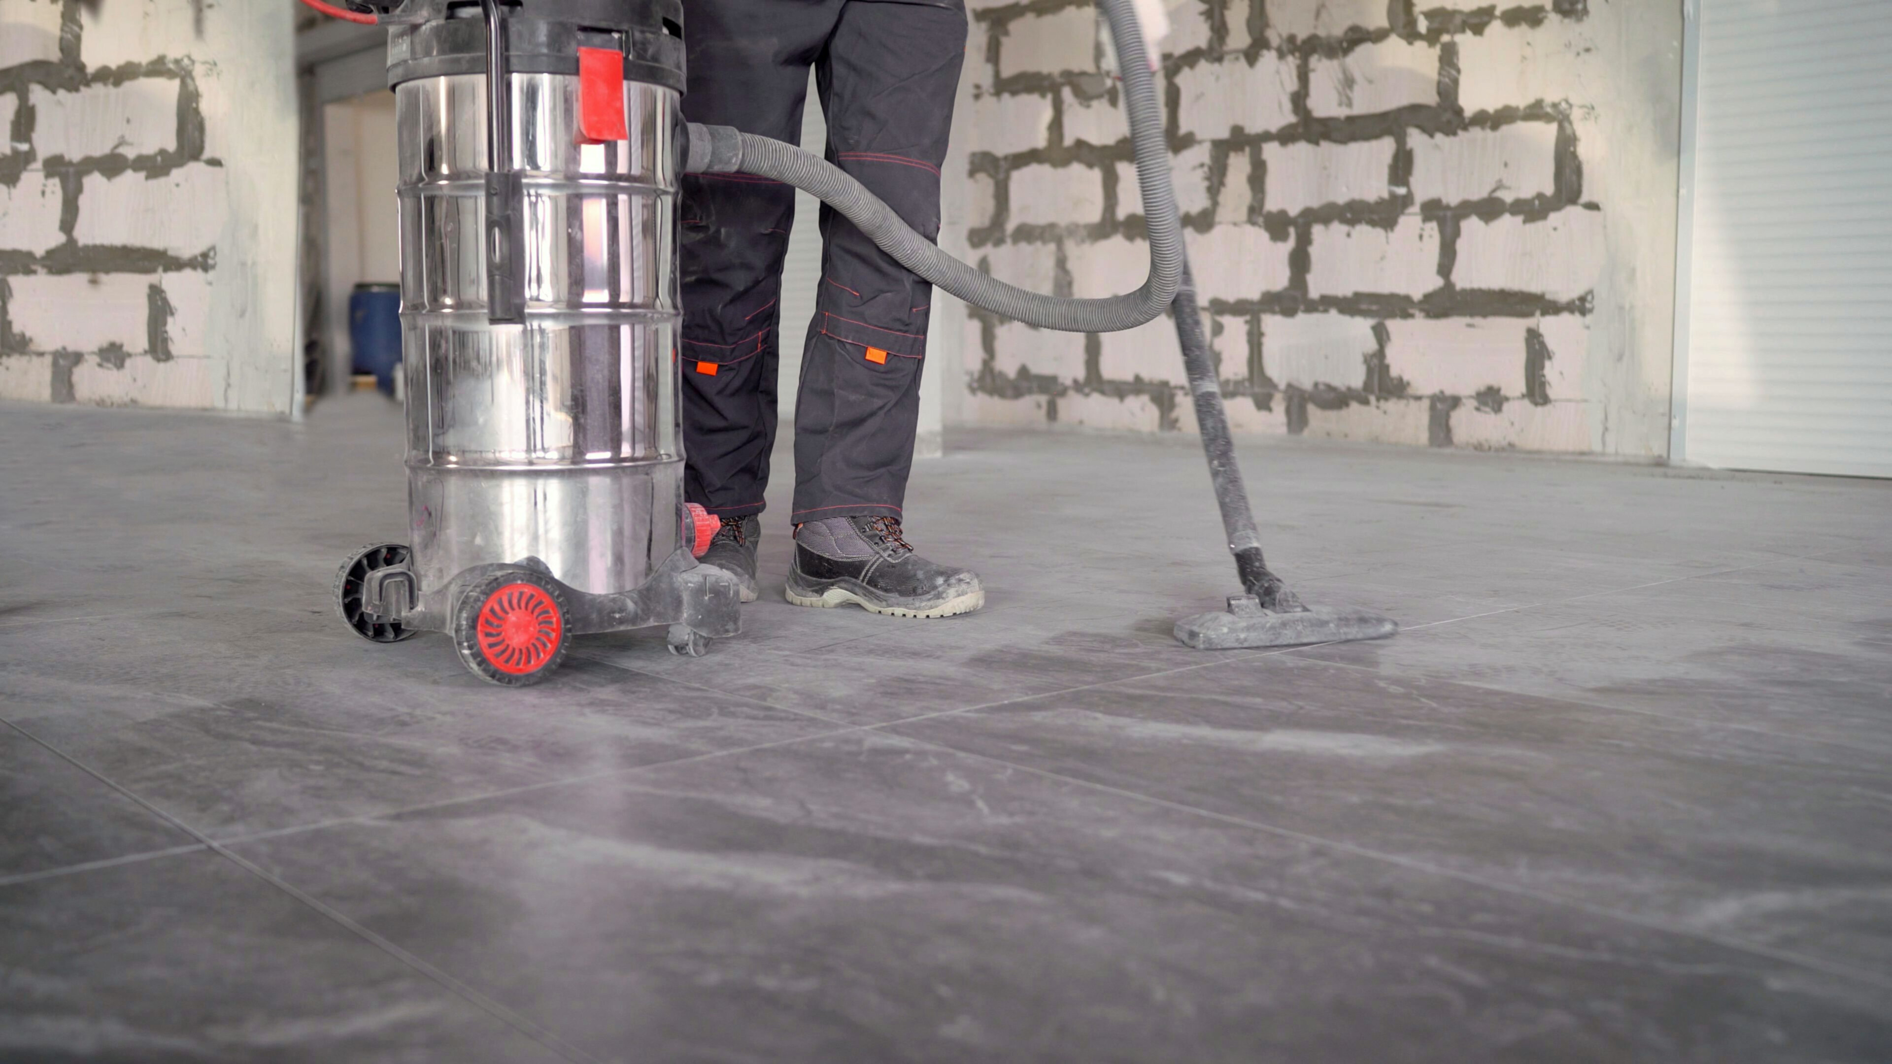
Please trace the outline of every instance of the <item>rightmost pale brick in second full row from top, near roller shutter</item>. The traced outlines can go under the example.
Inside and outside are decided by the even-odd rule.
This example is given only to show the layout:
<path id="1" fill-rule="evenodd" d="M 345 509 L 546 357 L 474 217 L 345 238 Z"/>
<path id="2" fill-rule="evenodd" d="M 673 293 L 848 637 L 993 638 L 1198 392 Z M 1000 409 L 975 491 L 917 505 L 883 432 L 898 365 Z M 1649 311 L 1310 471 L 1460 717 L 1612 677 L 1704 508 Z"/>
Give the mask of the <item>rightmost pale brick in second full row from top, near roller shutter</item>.
<path id="1" fill-rule="evenodd" d="M 1466 129 L 1453 136 L 1415 133 L 1411 151 L 1411 187 L 1419 203 L 1531 199 L 1557 187 L 1557 127 L 1548 121 Z"/>

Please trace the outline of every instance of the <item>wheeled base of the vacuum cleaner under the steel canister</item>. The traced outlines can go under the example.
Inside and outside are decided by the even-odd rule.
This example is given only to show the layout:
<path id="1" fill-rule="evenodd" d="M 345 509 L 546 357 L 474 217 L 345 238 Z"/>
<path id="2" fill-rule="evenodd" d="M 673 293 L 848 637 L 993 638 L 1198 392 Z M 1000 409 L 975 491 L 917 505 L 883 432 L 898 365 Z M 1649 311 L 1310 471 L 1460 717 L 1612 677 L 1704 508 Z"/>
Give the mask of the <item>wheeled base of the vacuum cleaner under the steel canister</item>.
<path id="1" fill-rule="evenodd" d="M 738 634 L 742 587 L 679 547 L 641 587 L 621 593 L 579 591 L 539 559 L 473 566 L 424 589 L 405 545 L 377 543 L 342 562 L 335 608 L 377 644 L 447 632 L 475 676 L 524 687 L 558 670 L 571 636 L 592 632 L 668 625 L 670 653 L 702 657 L 711 638 Z"/>

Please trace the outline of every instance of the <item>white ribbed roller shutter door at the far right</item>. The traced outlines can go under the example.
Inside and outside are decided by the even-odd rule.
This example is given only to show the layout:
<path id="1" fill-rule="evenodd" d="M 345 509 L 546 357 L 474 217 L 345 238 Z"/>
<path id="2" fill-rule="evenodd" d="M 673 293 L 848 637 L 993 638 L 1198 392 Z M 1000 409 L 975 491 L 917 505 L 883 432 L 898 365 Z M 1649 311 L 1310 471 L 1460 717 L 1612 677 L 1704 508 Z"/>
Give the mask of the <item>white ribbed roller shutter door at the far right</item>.
<path id="1" fill-rule="evenodd" d="M 1892 0 L 1691 8 L 1676 451 L 1892 477 Z"/>

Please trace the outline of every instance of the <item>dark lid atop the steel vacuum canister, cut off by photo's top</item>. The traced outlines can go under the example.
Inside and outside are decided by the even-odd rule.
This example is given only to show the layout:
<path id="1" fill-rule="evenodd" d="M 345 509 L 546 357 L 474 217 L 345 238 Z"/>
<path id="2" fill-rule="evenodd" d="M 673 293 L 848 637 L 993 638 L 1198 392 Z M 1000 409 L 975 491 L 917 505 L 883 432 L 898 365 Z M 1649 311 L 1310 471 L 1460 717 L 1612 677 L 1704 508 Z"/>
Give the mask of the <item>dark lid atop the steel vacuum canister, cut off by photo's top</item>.
<path id="1" fill-rule="evenodd" d="M 507 11 L 507 66 L 577 74 L 579 49 L 624 55 L 624 80 L 683 91 L 683 0 L 520 0 Z M 448 0 L 441 17 L 388 30 L 388 85 L 486 72 L 479 0 Z"/>

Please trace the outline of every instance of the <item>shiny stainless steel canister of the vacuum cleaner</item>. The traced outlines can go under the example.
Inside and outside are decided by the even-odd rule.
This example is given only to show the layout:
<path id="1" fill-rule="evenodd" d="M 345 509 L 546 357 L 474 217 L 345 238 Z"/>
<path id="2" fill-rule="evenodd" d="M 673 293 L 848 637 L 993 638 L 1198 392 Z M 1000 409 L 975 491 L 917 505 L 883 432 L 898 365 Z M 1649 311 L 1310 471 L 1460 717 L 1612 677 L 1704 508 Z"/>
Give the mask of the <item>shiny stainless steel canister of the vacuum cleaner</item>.
<path id="1" fill-rule="evenodd" d="M 587 593 L 677 549 L 677 93 L 624 81 L 630 140 L 585 144 L 579 78 L 511 74 L 526 320 L 486 320 L 486 78 L 397 85 L 401 324 L 424 591 L 543 560 Z"/>

